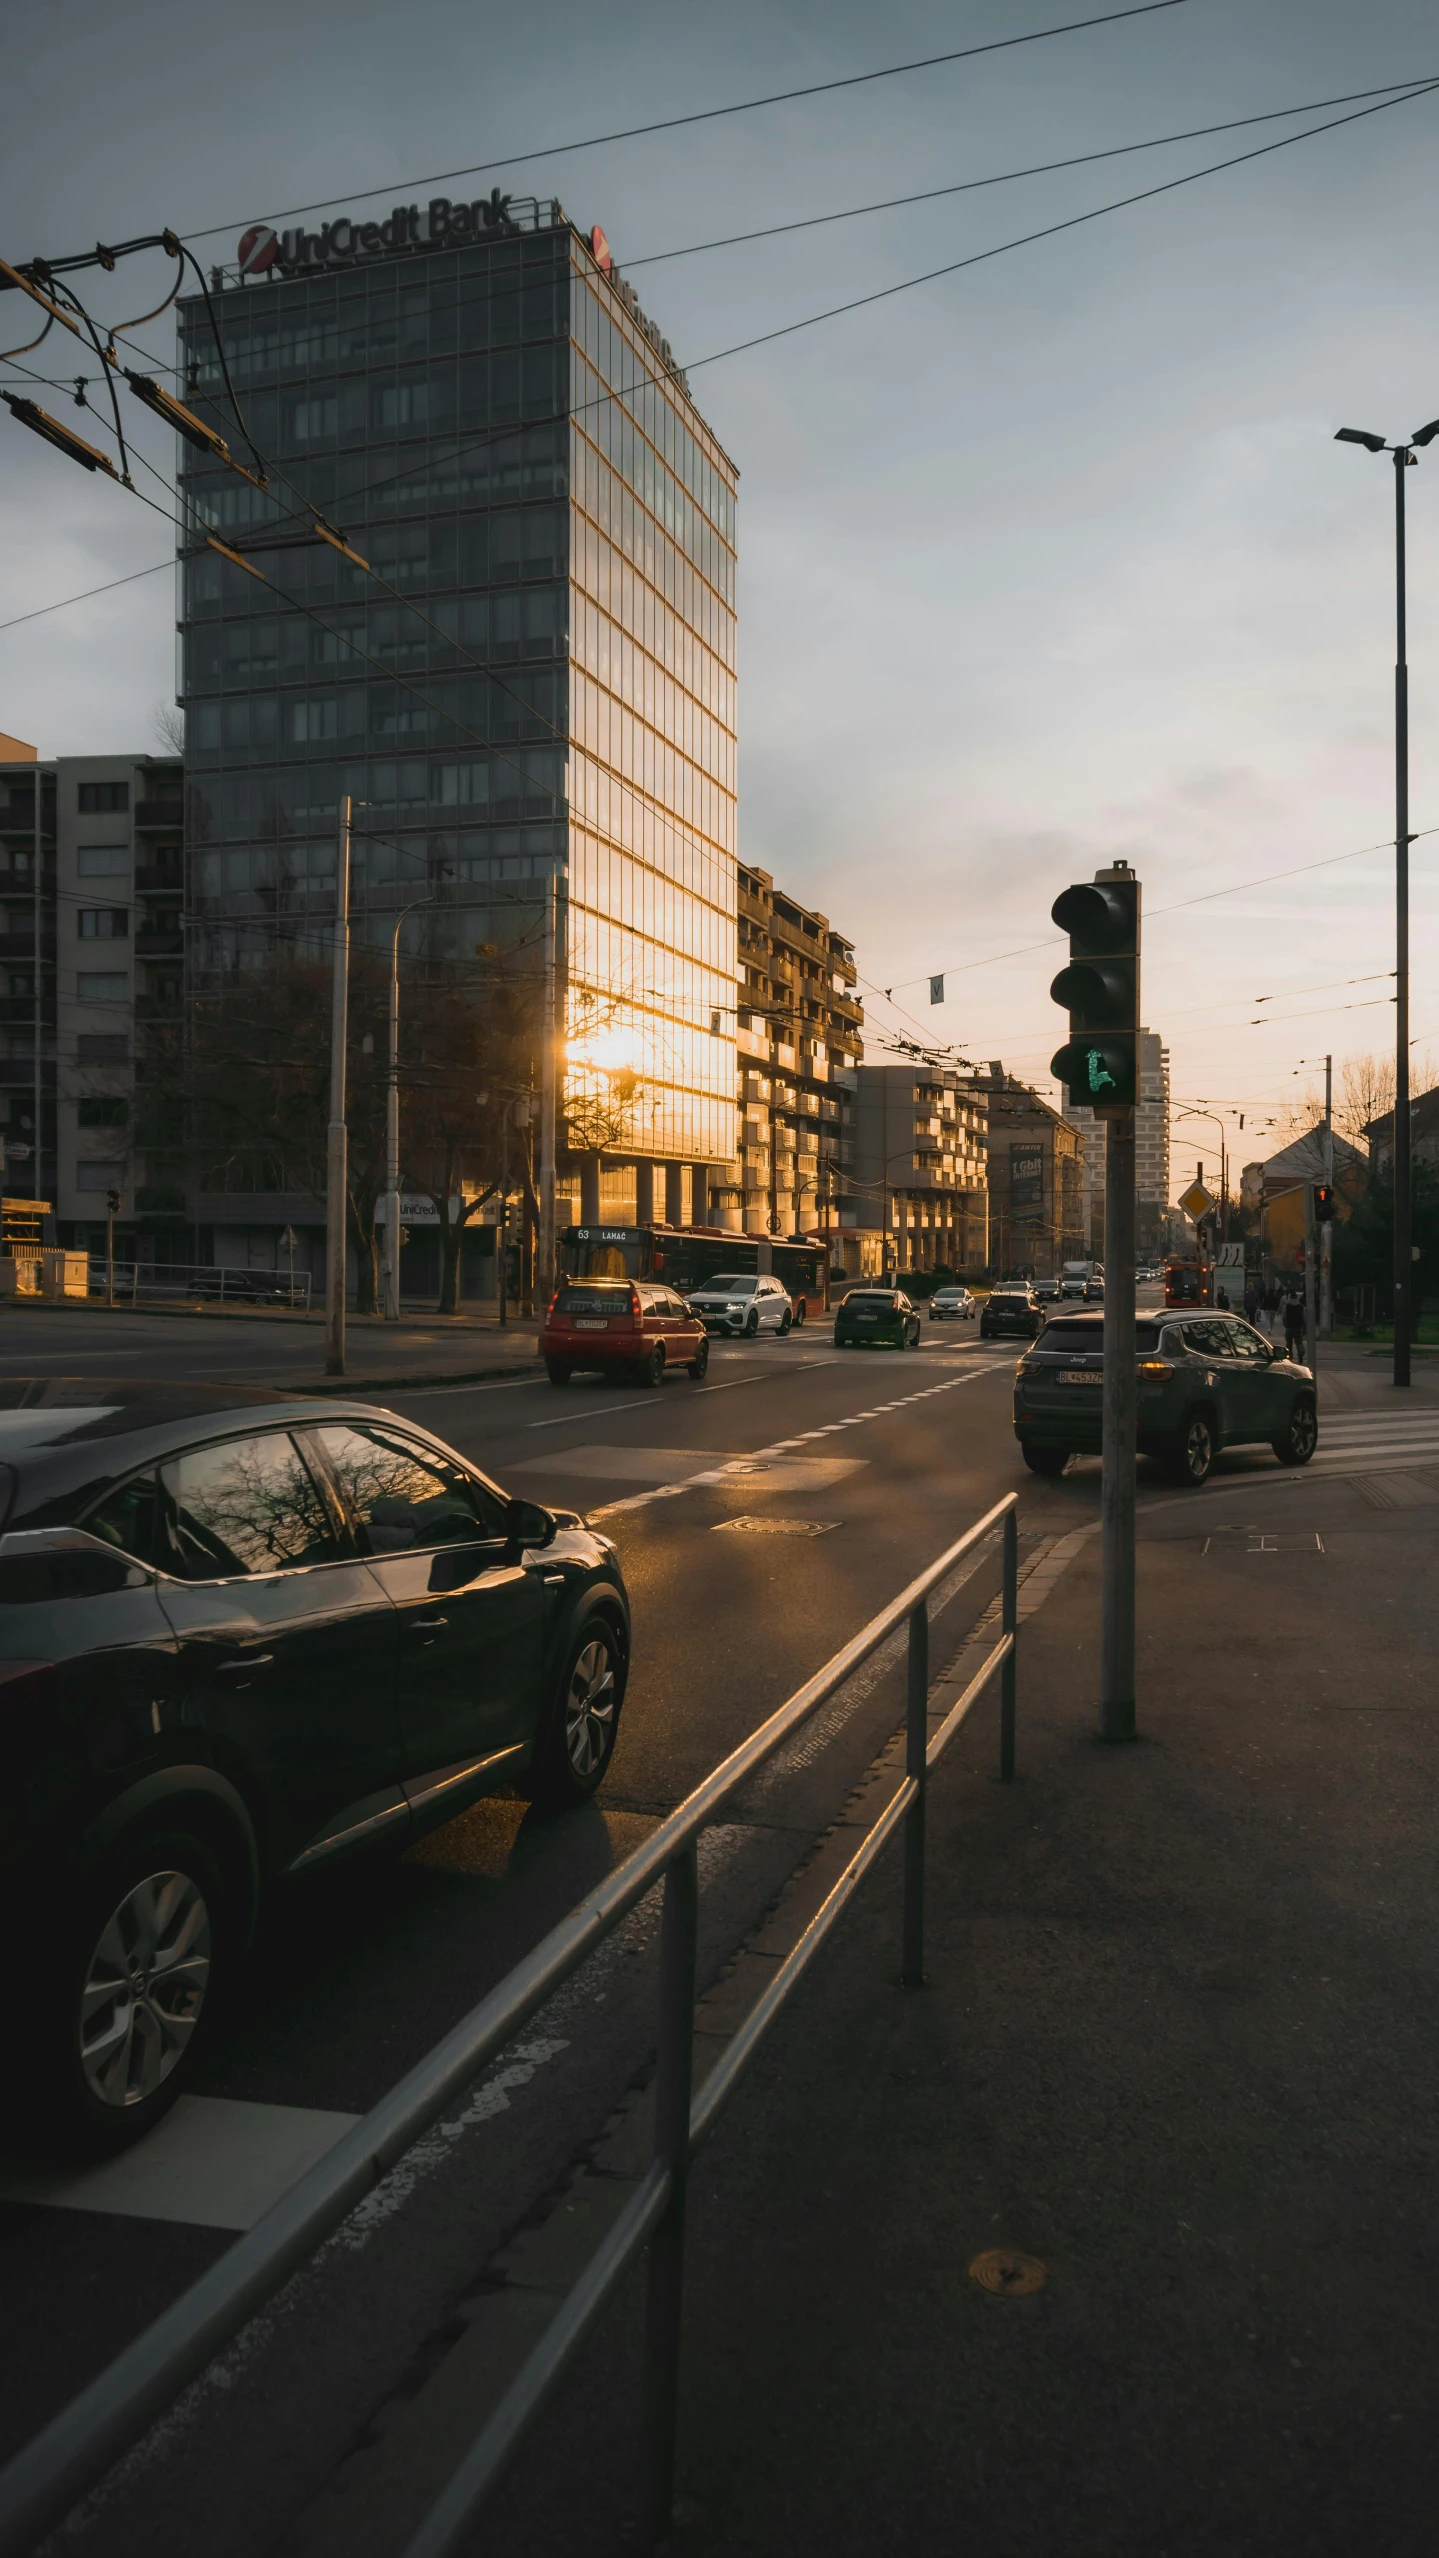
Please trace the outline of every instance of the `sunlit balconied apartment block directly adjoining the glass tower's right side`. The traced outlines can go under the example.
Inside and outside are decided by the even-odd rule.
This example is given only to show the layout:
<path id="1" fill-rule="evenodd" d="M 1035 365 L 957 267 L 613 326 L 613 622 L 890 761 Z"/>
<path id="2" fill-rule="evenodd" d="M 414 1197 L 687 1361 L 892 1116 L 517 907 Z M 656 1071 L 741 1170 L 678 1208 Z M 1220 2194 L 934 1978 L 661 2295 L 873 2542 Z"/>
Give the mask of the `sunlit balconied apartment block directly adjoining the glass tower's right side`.
<path id="1" fill-rule="evenodd" d="M 739 1159 L 716 1215 L 751 1236 L 838 1228 L 864 1056 L 854 949 L 741 865 L 739 969 Z"/>

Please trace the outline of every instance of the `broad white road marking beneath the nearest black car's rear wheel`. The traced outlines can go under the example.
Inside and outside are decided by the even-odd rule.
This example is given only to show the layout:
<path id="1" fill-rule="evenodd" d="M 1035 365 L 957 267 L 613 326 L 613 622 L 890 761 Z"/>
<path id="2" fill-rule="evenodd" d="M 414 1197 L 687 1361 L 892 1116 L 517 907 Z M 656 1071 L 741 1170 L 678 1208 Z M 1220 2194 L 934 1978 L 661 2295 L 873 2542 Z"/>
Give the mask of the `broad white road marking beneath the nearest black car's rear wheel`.
<path id="1" fill-rule="evenodd" d="M 181 2095 L 146 2141 L 100 2167 L 0 2159 L 0 2200 L 248 2231 L 358 2121 L 317 2105 Z"/>

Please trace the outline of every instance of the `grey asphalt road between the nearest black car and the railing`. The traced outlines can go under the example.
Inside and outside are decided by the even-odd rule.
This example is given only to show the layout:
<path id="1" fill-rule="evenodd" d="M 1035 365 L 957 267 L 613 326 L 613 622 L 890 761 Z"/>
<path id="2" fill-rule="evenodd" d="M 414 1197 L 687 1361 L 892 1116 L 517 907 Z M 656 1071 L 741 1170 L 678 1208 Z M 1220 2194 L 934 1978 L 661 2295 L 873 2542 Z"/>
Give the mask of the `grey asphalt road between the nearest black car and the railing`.
<path id="1" fill-rule="evenodd" d="M 215 2261 L 999 1494 L 1022 1494 L 1030 1540 L 1097 1517 L 1097 1461 L 1058 1484 L 1020 1466 L 1012 1358 L 969 1328 L 925 1325 L 920 1356 L 836 1353 L 810 1328 L 716 1346 L 703 1386 L 578 1379 L 555 1392 L 506 1379 L 383 1397 L 501 1486 L 603 1517 L 619 1540 L 634 1675 L 611 1773 L 585 1811 L 537 1819 L 496 1798 L 399 1860 L 276 1893 L 174 2128 L 97 2185 L 0 2162 L 0 2451 Z M 1268 1450 L 1252 1463 L 1275 1471 Z M 987 1555 L 951 1596 L 935 1658 L 994 1583 Z M 703 1977 L 833 1821 L 900 1714 L 900 1665 L 861 1673 L 705 1834 Z M 644 2072 L 654 1931 L 644 1903 L 102 2486 L 79 2545 L 100 2558 L 197 2545 L 256 2558 L 294 2532 L 437 2351 L 491 2254 Z"/>

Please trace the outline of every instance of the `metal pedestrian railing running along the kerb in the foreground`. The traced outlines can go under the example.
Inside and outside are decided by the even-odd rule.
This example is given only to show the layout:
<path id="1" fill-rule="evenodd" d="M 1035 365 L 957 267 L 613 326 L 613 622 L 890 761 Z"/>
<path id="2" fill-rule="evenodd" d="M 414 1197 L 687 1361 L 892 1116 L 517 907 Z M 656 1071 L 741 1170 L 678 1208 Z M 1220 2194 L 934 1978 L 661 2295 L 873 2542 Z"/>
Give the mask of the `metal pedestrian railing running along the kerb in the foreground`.
<path id="1" fill-rule="evenodd" d="M 815 1670 L 749 1734 L 532 1954 L 501 1980 L 335 2149 L 330 2149 L 189 2292 L 138 2335 L 0 2476 L 0 2558 L 20 2558 L 59 2522 L 112 2461 L 171 2405 L 197 2371 L 314 2254 L 348 2213 L 435 2123 L 450 2100 L 575 1972 L 621 1918 L 665 1883 L 659 1931 L 659 2034 L 654 2154 L 547 2333 L 516 2371 L 465 2461 L 432 2504 L 406 2558 L 447 2558 L 514 2458 L 524 2433 L 555 2394 L 565 2369 L 601 2318 L 616 2284 L 649 2246 L 644 2338 L 644 2538 L 670 2532 L 675 2486 L 675 2410 L 685 2259 L 688 2167 L 713 2131 L 764 2034 L 813 1962 L 879 1849 L 905 1824 L 902 1977 L 923 1980 L 925 1957 L 925 1788 L 969 1709 L 999 1673 L 999 1775 L 1015 1775 L 1017 1640 L 1015 1491 L 994 1502 L 897 1599 Z M 953 1565 L 1002 1532 L 1002 1632 L 974 1678 L 928 1729 L 930 1591 Z M 774 1980 L 731 2036 L 723 2059 L 693 2095 L 698 1857 L 695 1842 L 728 1798 L 897 1627 L 907 1624 L 905 1780 L 884 1806 Z"/>

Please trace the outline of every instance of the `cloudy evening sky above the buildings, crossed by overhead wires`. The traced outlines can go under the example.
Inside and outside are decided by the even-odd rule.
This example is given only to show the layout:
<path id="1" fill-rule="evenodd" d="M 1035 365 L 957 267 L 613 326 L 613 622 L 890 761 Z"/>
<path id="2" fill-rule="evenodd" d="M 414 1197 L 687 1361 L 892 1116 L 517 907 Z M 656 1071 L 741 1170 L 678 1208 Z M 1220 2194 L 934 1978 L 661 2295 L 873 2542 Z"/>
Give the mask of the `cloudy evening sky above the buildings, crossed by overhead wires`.
<path id="1" fill-rule="evenodd" d="M 483 192 L 560 194 L 603 225 L 741 471 L 741 857 L 854 939 L 869 1056 L 912 1033 L 1002 1059 L 1048 1097 L 1063 1036 L 1050 903 L 1132 862 L 1178 1192 L 1219 1138 L 1181 1108 L 1217 1110 L 1242 1164 L 1273 1149 L 1268 1120 L 1314 1087 L 1324 1051 L 1393 1046 L 1393 466 L 1332 437 L 1403 437 L 1439 414 L 1439 95 L 718 363 L 1347 110 L 644 261 L 1439 77 L 1431 10 L 1178 0 L 557 151 L 1102 8 L 250 0 L 235 18 L 72 0 L 10 31 L 0 253 L 220 225 L 197 248 L 233 258 L 248 220 L 391 187 L 422 200 L 432 171 L 534 153 Z M 128 261 L 95 307 L 143 310 L 161 266 Z M 8 325 L 18 297 L 0 310 Z M 166 325 L 148 335 L 158 353 Z M 95 373 L 51 350 L 46 371 Z M 28 389 L 13 366 L 0 381 Z M 38 396 L 84 432 L 64 391 Z M 171 458 L 158 427 L 146 450 Z M 1439 443 L 1406 494 L 1411 826 L 1439 829 Z M 166 555 L 158 514 L 0 412 L 3 732 L 43 755 L 158 749 L 171 573 L 38 609 Z M 1436 877 L 1439 831 L 1413 844 L 1419 1062 L 1439 1054 Z"/>

